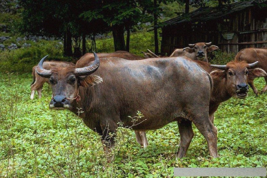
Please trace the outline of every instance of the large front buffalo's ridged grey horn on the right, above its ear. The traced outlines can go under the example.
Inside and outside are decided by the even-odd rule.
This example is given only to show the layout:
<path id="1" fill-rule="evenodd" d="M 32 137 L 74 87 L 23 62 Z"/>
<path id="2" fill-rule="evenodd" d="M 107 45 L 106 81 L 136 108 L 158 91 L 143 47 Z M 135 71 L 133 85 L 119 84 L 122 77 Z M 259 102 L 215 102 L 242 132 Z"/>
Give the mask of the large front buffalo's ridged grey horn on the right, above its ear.
<path id="1" fill-rule="evenodd" d="M 74 71 L 74 74 L 77 76 L 85 76 L 85 75 L 90 75 L 92 73 L 94 73 L 100 64 L 99 61 L 99 57 L 97 56 L 97 54 L 93 51 L 94 56 L 95 56 L 95 60 L 94 63 L 91 64 L 90 66 L 84 67 L 84 68 L 76 68 Z"/>

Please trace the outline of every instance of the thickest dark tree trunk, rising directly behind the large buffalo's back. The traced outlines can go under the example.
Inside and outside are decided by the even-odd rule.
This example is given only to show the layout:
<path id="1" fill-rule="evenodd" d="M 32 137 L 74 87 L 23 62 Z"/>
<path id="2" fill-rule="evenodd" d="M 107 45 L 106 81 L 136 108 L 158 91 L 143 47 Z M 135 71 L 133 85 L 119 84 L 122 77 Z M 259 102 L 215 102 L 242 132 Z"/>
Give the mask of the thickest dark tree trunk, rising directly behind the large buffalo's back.
<path id="1" fill-rule="evenodd" d="M 124 26 L 123 25 L 113 25 L 112 35 L 114 39 L 114 49 L 115 51 L 126 51 L 125 40 L 124 40 Z"/>

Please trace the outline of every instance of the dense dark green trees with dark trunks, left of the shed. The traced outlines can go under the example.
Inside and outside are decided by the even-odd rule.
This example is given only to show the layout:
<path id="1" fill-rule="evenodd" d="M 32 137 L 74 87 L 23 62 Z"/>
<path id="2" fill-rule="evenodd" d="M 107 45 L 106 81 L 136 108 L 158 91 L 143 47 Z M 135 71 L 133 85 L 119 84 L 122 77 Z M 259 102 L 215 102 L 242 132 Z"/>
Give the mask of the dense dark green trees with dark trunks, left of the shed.
<path id="1" fill-rule="evenodd" d="M 190 5 L 199 7 L 230 2 L 231 0 L 21 0 L 24 7 L 22 29 L 30 34 L 63 38 L 65 56 L 81 56 L 86 52 L 87 36 L 109 31 L 114 38 L 115 51 L 129 51 L 130 31 L 145 22 L 157 25 L 163 13 L 163 5 L 183 6 L 181 14 L 188 13 Z M 175 13 L 179 15 L 178 12 Z M 154 28 L 154 41 L 155 52 L 158 53 L 157 28 Z"/>

